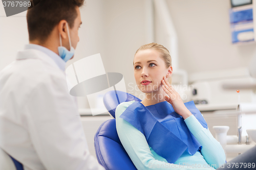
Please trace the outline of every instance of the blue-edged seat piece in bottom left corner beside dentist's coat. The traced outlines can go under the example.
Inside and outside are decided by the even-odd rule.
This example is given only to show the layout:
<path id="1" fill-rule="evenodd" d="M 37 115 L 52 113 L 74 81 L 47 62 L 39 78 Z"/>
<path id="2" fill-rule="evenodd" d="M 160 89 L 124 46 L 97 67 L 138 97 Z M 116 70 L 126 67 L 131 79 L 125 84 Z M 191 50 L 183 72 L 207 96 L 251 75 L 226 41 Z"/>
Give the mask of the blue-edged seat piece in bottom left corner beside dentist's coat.
<path id="1" fill-rule="evenodd" d="M 23 165 L 0 148 L 0 169 L 24 170 Z"/>

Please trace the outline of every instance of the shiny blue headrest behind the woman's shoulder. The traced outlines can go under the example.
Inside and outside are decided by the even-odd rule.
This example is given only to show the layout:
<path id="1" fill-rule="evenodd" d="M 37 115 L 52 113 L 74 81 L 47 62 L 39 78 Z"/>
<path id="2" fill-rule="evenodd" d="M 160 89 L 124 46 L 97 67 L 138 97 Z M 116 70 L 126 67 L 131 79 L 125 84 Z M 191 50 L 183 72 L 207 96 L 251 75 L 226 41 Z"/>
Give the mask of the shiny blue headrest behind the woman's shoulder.
<path id="1" fill-rule="evenodd" d="M 118 90 L 106 92 L 105 95 L 103 96 L 103 103 L 105 105 L 105 108 L 110 112 L 110 114 L 114 118 L 116 118 L 115 116 L 116 107 L 120 103 L 129 102 L 129 101 L 141 102 L 141 100 L 139 98 L 136 98 L 134 95 L 123 92 L 123 91 L 118 91 Z"/>

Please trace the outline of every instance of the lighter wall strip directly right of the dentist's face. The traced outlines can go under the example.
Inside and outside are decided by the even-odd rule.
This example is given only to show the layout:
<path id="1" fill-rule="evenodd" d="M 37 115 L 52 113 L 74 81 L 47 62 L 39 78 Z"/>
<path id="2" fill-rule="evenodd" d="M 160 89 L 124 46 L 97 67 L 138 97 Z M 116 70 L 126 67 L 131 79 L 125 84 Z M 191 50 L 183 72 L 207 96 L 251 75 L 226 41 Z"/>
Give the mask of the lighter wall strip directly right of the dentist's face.
<path id="1" fill-rule="evenodd" d="M 80 14 L 82 25 L 78 31 L 79 42 L 75 56 L 67 62 L 66 68 L 84 57 L 98 53 L 101 54 L 103 63 L 105 60 L 104 0 L 87 0 L 80 8 Z M 77 97 L 77 101 L 79 108 L 90 107 L 86 97 Z"/>

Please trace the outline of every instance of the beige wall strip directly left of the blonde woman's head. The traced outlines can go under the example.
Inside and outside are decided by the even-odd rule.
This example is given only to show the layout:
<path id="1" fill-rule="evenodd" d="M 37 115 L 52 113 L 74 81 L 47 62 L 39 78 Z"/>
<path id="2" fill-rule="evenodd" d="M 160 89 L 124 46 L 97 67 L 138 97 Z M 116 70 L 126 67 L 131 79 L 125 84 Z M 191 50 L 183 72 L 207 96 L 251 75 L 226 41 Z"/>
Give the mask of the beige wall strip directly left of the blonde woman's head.
<path id="1" fill-rule="evenodd" d="M 137 49 L 146 43 L 145 1 L 111 0 L 105 4 L 106 61 L 108 72 L 120 72 L 127 92 L 138 96 L 135 90 L 133 59 Z M 142 94 L 141 96 L 144 96 Z"/>

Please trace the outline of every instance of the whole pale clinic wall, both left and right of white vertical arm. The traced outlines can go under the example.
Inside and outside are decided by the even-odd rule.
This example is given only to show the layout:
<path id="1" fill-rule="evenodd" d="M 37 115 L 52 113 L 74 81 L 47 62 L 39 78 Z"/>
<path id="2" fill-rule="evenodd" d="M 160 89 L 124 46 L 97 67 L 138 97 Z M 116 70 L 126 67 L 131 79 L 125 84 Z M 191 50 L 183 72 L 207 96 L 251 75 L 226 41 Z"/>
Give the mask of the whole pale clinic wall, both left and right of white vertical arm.
<path id="1" fill-rule="evenodd" d="M 146 9 L 143 1 L 88 0 L 80 9 L 75 58 L 100 53 L 106 72 L 120 72 L 126 89 L 135 92 L 133 57 L 137 48 L 147 43 Z M 167 0 L 178 34 L 179 67 L 188 73 L 244 67 L 256 53 L 256 44 L 233 45 L 229 26 L 229 0 Z M 0 15 L 4 16 L 0 3 Z M 0 70 L 15 59 L 16 52 L 28 43 L 26 12 L 0 17 Z M 140 91 L 137 91 L 141 94 Z M 141 96 L 141 95 L 140 95 Z M 86 98 L 79 106 L 89 107 Z"/>

